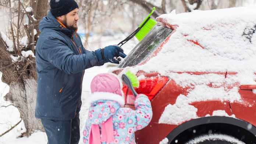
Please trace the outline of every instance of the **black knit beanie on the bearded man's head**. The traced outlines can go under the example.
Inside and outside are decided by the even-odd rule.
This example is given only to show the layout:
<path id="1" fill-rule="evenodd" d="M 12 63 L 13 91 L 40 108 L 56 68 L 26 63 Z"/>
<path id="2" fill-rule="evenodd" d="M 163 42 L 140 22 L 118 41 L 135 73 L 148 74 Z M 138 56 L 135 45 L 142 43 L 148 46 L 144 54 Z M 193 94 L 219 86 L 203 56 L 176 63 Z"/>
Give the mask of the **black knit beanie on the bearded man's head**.
<path id="1" fill-rule="evenodd" d="M 51 0 L 50 1 L 51 14 L 54 17 L 60 17 L 68 12 L 71 12 L 75 8 L 79 8 L 75 0 Z"/>

